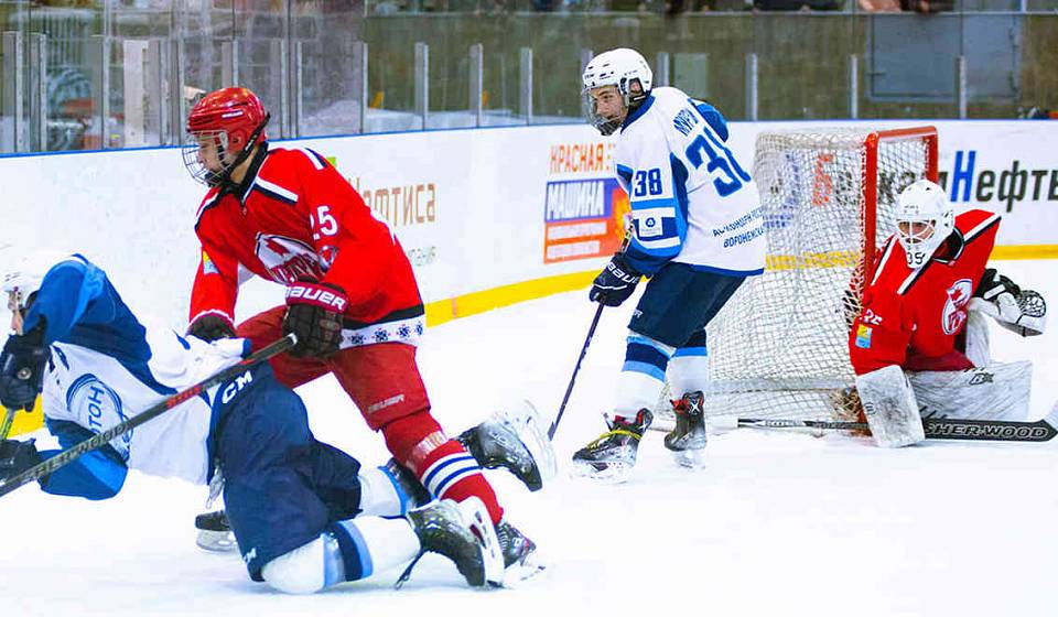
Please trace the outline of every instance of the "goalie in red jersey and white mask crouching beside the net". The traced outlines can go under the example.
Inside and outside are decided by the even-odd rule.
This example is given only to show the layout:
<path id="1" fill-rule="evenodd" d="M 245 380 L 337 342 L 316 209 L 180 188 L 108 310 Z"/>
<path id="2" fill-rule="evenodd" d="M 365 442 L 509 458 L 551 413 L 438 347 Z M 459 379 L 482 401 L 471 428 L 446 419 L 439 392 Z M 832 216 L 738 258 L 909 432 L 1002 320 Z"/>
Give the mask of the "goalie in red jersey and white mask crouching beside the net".
<path id="1" fill-rule="evenodd" d="M 921 441 L 920 414 L 1023 420 L 1032 362 L 991 362 L 984 317 L 1033 336 L 1044 331 L 1047 306 L 986 267 L 1000 216 L 971 209 L 957 217 L 943 188 L 920 180 L 900 193 L 896 223 L 849 334 L 875 441 Z"/>

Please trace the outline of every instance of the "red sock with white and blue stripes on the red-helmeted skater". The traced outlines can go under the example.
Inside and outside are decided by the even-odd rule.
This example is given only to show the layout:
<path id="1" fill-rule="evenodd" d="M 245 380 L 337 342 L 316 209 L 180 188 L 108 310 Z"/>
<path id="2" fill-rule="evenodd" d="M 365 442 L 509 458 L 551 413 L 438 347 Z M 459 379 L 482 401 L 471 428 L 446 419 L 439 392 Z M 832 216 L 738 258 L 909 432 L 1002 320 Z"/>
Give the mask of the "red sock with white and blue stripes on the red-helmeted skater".
<path id="1" fill-rule="evenodd" d="M 460 442 L 445 436 L 429 412 L 398 418 L 382 426 L 382 435 L 393 457 L 411 469 L 435 498 L 463 501 L 477 497 L 493 524 L 504 517 L 477 461 Z"/>

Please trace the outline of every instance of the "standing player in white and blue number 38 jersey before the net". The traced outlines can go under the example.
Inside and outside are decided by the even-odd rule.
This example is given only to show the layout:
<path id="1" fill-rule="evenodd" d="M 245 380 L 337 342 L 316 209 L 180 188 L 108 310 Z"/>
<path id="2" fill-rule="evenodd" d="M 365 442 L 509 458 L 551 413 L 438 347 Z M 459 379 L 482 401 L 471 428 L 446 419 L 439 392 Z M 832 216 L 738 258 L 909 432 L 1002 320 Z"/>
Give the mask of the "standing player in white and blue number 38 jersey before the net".
<path id="1" fill-rule="evenodd" d="M 650 282 L 628 325 L 609 431 L 573 462 L 595 477 L 619 476 L 634 465 L 668 371 L 679 399 L 677 426 L 665 444 L 691 463 L 705 445 L 705 325 L 746 277 L 764 271 L 757 187 L 727 147 L 723 116 L 677 88 L 651 88 L 639 53 L 598 55 L 583 82 L 592 123 L 617 134 L 616 173 L 633 218 L 628 247 L 598 274 L 590 297 L 617 306 L 641 277 Z"/>

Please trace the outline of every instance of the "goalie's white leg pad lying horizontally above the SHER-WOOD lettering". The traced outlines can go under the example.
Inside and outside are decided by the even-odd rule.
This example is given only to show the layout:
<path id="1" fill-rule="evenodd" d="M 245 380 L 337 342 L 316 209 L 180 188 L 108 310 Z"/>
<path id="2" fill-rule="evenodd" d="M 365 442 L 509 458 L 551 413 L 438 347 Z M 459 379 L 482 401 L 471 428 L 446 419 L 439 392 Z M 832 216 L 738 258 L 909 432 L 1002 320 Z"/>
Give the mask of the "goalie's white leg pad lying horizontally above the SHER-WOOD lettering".
<path id="1" fill-rule="evenodd" d="M 1028 418 L 1033 362 L 1000 362 L 969 370 L 908 374 L 925 418 L 1015 420 Z"/>

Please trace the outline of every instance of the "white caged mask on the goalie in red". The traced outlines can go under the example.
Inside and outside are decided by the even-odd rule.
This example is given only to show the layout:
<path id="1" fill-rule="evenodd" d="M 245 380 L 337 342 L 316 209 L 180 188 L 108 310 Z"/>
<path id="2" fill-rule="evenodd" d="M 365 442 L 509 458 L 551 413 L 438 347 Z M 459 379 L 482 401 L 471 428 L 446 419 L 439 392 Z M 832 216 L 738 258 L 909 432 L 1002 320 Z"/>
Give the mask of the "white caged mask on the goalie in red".
<path id="1" fill-rule="evenodd" d="M 896 238 L 910 268 L 925 266 L 956 228 L 956 214 L 944 190 L 919 180 L 896 199 Z"/>

